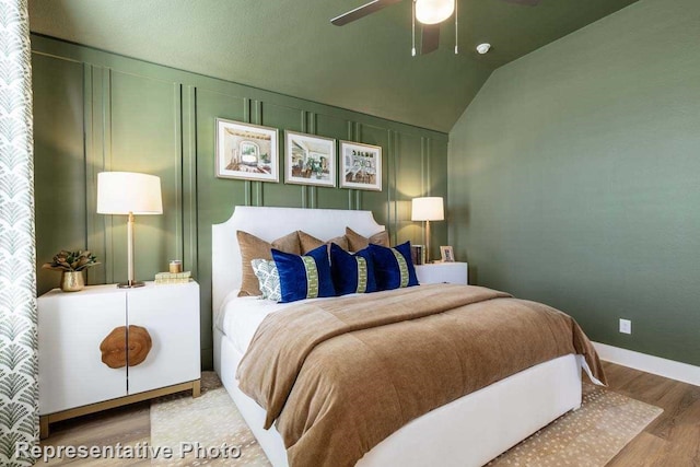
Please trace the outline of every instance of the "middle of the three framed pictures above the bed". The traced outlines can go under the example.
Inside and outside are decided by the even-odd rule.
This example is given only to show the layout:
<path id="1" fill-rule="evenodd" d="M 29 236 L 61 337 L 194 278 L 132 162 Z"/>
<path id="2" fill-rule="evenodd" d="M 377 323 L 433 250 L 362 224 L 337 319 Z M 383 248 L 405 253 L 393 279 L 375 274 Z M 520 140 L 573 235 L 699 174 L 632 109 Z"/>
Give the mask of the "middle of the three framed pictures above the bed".
<path id="1" fill-rule="evenodd" d="M 284 183 L 336 186 L 336 140 L 284 131 Z"/>

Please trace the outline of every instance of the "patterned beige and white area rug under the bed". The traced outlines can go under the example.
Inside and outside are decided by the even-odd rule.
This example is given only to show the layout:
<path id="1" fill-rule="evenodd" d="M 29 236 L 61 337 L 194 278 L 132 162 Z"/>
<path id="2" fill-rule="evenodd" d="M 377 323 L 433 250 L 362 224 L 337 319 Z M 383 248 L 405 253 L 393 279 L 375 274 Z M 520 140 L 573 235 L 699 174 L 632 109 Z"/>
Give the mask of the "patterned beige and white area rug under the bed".
<path id="1" fill-rule="evenodd" d="M 579 410 L 555 420 L 488 465 L 603 467 L 663 411 L 592 384 L 584 383 L 583 394 Z M 191 446 L 182 450 L 184 441 Z M 224 443 L 241 446 L 240 453 L 220 450 Z M 155 465 L 270 465 L 212 372 L 202 373 L 200 398 L 175 395 L 153 401 L 151 446 L 168 446 L 175 453 L 174 458 L 154 460 Z M 189 448 L 192 452 L 180 459 L 179 453 Z M 240 457 L 232 456 L 236 454 Z"/>

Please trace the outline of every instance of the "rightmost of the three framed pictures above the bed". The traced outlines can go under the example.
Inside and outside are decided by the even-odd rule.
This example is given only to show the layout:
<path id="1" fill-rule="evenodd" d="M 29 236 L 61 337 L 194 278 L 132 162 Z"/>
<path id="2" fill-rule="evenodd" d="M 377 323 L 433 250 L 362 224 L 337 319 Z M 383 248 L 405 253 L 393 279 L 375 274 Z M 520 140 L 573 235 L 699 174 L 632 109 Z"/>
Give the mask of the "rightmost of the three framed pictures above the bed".
<path id="1" fill-rule="evenodd" d="M 340 188 L 382 190 L 382 148 L 340 141 Z"/>

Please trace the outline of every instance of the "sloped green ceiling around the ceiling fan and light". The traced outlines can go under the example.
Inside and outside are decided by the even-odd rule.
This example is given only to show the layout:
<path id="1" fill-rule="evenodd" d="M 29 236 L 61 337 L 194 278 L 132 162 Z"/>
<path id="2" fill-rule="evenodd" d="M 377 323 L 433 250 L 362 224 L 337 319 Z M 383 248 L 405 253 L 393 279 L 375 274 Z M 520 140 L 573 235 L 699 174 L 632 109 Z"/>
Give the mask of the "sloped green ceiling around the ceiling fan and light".
<path id="1" fill-rule="evenodd" d="M 459 55 L 447 21 L 439 50 L 418 57 L 410 1 L 342 27 L 329 19 L 364 0 L 30 0 L 30 22 L 34 33 L 446 132 L 495 68 L 637 0 L 459 0 Z M 485 42 L 492 49 L 478 55 Z"/>

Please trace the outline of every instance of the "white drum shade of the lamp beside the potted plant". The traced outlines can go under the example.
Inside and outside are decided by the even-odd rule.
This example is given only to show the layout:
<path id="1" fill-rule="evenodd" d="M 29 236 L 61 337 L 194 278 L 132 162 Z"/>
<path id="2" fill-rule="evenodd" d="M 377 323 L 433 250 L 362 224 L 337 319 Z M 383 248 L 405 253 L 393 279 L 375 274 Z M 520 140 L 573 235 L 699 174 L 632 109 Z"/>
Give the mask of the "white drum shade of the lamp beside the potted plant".
<path id="1" fill-rule="evenodd" d="M 162 214 L 161 178 L 133 172 L 97 174 L 97 212 Z"/>

